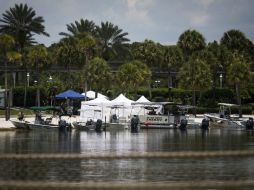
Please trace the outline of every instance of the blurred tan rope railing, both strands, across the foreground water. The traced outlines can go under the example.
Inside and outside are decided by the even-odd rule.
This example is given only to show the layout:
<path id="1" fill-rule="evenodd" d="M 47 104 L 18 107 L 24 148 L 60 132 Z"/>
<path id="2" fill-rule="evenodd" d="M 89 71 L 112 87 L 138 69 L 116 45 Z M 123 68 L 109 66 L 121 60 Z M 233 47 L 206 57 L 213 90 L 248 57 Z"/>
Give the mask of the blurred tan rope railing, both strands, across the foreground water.
<path id="1" fill-rule="evenodd" d="M 15 165 L 16 162 L 22 167 L 26 167 L 26 164 L 47 163 L 48 161 L 63 161 L 73 163 L 76 160 L 120 160 L 120 159 L 174 159 L 174 158 L 245 158 L 254 156 L 254 151 L 207 151 L 207 152 L 132 152 L 128 154 L 2 154 L 0 155 L 0 163 L 7 162 L 11 165 Z M 75 163 L 75 162 L 74 162 Z M 18 165 L 18 164 L 17 164 Z M 6 168 L 8 166 L 5 166 Z M 46 168 L 47 170 L 47 168 Z M 4 170 L 0 172 L 5 172 Z M 40 172 L 40 171 L 38 171 Z M 18 174 L 18 173 L 16 173 Z M 15 175 L 15 171 L 14 171 Z M 0 180 L 0 189 L 5 190 L 23 190 L 23 189 L 105 189 L 105 190 L 150 190 L 150 189 L 254 189 L 254 180 L 202 180 L 202 181 L 162 181 L 162 182 L 95 182 L 95 181 L 57 181 L 57 182 L 45 182 L 38 180 Z"/>

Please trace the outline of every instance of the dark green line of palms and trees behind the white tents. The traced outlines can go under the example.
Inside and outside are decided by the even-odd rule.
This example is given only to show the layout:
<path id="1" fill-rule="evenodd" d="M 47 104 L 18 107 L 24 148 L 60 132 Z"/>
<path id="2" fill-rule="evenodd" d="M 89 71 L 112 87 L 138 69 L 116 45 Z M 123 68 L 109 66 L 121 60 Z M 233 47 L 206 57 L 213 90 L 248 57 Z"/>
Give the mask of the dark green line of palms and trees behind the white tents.
<path id="1" fill-rule="evenodd" d="M 232 92 L 231 103 L 253 102 L 254 45 L 238 29 L 209 43 L 200 32 L 186 30 L 176 45 L 168 46 L 148 39 L 130 43 L 128 33 L 117 25 L 81 18 L 59 31 L 59 42 L 45 47 L 33 39 L 34 35 L 49 36 L 43 24 L 43 17 L 26 4 L 14 5 L 0 19 L 1 61 L 6 67 L 16 64 L 26 71 L 18 86 L 27 87 L 26 73 L 30 72 L 30 87 L 37 87 L 37 104 L 41 91 L 68 88 L 92 89 L 111 97 L 119 92 L 132 98 L 145 93 L 151 100 L 162 97 L 201 106 L 222 100 L 218 91 L 224 89 L 221 97 Z M 5 83 L 1 85 L 10 88 L 11 73 L 2 77 Z M 180 91 L 184 92 L 178 96 Z M 186 101 L 189 94 L 191 100 Z"/>

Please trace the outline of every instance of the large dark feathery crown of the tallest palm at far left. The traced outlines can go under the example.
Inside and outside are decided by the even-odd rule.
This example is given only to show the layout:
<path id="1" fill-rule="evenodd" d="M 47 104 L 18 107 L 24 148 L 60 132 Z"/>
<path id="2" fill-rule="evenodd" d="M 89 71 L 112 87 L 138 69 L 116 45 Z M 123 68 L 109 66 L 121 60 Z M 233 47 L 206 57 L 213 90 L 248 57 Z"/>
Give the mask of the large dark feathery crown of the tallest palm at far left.
<path id="1" fill-rule="evenodd" d="M 0 22 L 0 32 L 13 36 L 21 50 L 31 42 L 34 34 L 49 36 L 43 26 L 44 19 L 41 16 L 36 17 L 36 12 L 27 4 L 15 4 L 3 13 Z"/>

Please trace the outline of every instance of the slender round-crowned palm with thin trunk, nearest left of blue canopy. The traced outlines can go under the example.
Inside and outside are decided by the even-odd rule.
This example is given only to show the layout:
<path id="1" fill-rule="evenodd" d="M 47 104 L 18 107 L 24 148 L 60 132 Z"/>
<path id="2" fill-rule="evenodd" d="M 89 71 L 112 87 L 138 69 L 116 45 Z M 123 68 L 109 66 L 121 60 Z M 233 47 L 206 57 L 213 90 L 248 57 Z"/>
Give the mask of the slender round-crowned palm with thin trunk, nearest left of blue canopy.
<path id="1" fill-rule="evenodd" d="M 40 69 L 47 63 L 48 52 L 42 45 L 36 45 L 28 50 L 28 61 L 32 67 L 36 69 L 37 78 L 37 90 L 36 90 L 36 102 L 37 106 L 40 106 Z"/>

